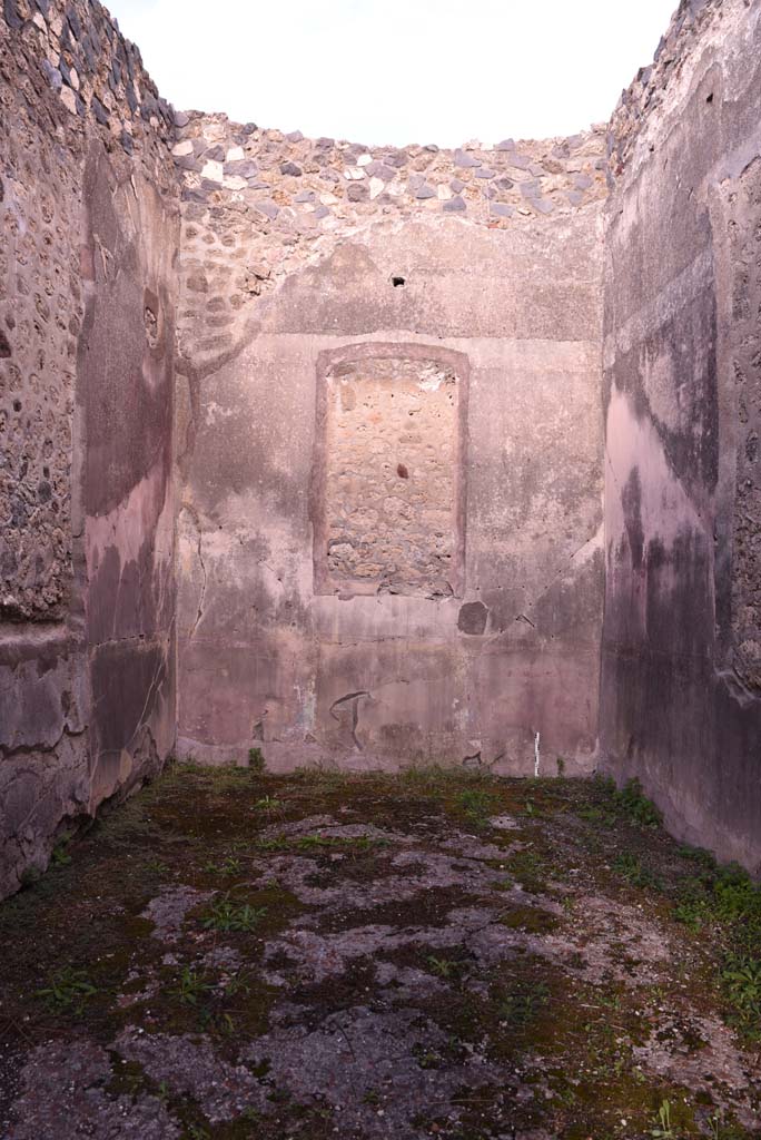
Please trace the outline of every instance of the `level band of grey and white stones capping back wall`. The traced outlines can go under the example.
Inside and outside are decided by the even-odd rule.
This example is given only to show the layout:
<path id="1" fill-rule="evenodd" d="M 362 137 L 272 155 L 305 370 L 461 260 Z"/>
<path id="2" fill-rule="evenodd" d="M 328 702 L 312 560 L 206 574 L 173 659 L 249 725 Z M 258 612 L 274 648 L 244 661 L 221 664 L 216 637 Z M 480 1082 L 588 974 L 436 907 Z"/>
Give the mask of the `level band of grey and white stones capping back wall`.
<path id="1" fill-rule="evenodd" d="M 492 228 L 604 197 L 605 127 L 496 147 L 362 146 L 260 130 L 226 115 L 177 116 L 186 202 L 238 202 L 284 233 L 329 233 L 371 214 L 434 211 Z"/>

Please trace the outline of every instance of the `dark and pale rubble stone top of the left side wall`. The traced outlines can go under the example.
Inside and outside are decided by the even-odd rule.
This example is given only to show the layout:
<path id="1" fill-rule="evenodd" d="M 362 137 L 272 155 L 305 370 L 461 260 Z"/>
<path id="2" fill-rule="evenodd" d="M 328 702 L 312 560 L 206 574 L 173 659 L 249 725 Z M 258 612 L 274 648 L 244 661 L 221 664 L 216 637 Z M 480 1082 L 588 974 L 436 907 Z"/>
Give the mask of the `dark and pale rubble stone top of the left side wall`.
<path id="1" fill-rule="evenodd" d="M 36 88 L 41 76 L 67 112 L 68 139 L 96 129 L 108 149 L 147 158 L 161 189 L 172 181 L 165 149 L 173 111 L 158 95 L 140 51 L 98 0 L 3 0 L 0 39 Z M 5 26 L 3 26 L 5 25 Z M 5 35 L 3 35 L 5 33 Z"/>

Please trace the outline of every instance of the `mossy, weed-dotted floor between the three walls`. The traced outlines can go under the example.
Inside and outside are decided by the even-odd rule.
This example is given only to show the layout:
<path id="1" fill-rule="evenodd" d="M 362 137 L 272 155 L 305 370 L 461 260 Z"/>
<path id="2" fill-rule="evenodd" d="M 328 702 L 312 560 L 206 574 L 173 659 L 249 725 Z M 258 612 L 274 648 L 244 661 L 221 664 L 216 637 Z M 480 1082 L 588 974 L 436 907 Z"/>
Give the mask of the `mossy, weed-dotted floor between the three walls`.
<path id="1" fill-rule="evenodd" d="M 636 787 L 177 766 L 0 946 L 3 1140 L 761 1137 L 761 895 Z"/>

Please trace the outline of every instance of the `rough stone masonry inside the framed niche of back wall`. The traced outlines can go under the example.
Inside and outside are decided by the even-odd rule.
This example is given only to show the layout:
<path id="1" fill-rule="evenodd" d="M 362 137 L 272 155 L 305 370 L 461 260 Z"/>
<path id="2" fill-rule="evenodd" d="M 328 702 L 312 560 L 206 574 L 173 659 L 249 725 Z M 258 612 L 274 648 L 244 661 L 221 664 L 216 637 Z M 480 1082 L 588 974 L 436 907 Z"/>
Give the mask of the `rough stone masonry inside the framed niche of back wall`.
<path id="1" fill-rule="evenodd" d="M 455 593 L 458 385 L 434 360 L 327 376 L 328 581 L 351 593 Z"/>

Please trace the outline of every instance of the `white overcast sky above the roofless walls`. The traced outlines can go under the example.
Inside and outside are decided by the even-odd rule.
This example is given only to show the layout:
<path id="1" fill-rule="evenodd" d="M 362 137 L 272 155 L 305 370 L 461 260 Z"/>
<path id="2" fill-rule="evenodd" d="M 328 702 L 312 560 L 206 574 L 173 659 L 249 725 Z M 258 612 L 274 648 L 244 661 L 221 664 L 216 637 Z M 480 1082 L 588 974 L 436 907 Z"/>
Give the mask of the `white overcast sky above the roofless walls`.
<path id="1" fill-rule="evenodd" d="M 677 0 L 106 0 L 178 108 L 368 145 L 573 135 Z"/>

